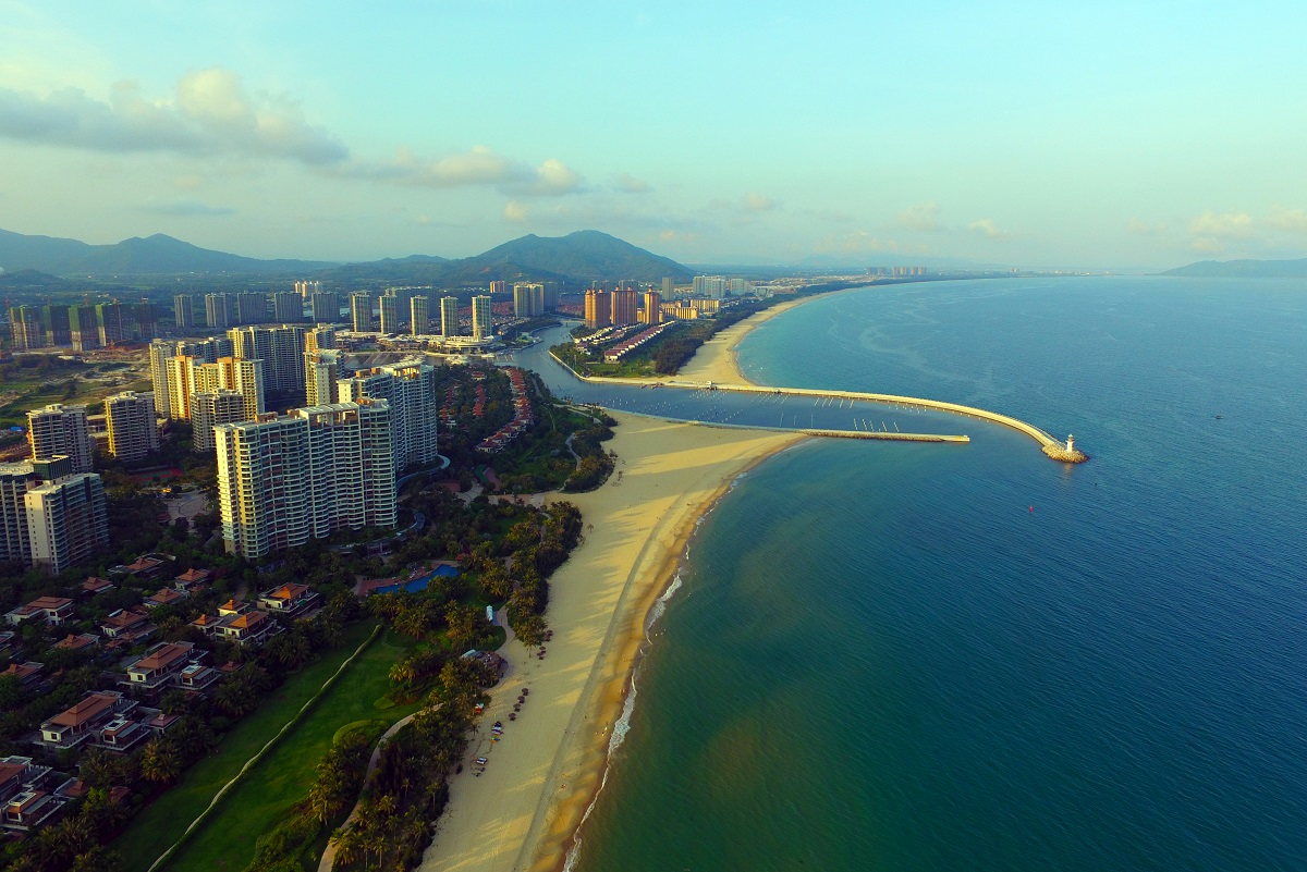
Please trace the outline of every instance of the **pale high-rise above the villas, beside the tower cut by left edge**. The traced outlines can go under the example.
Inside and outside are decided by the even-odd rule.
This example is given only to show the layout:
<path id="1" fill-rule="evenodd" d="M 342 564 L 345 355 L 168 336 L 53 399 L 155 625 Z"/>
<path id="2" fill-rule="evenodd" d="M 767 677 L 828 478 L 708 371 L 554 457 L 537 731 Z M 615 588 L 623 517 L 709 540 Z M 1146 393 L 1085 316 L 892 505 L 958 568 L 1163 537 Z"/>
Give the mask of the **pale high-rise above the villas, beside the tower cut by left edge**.
<path id="1" fill-rule="evenodd" d="M 46 482 L 22 501 L 34 567 L 55 576 L 108 546 L 105 483 L 94 473 Z"/>

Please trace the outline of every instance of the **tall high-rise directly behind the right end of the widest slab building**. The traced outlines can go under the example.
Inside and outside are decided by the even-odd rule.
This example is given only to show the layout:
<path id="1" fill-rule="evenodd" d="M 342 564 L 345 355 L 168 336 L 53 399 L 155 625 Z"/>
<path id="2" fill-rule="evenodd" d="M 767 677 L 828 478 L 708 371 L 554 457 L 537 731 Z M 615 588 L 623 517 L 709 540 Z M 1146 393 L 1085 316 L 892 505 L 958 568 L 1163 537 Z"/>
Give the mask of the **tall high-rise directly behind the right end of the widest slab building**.
<path id="1" fill-rule="evenodd" d="M 397 469 L 435 462 L 440 411 L 435 402 L 435 367 L 409 358 L 342 379 L 337 390 L 340 402 L 386 399 L 389 403 Z"/>

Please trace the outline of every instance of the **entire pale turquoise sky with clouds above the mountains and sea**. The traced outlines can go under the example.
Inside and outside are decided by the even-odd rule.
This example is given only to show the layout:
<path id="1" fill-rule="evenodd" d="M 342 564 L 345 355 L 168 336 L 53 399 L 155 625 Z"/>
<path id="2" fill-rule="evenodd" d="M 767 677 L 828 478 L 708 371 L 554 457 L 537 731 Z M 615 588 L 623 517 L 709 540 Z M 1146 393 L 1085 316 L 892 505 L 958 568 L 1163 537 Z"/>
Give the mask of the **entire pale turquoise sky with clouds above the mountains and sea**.
<path id="1" fill-rule="evenodd" d="M 1307 256 L 1300 3 L 0 0 L 0 228 L 682 262 Z"/>

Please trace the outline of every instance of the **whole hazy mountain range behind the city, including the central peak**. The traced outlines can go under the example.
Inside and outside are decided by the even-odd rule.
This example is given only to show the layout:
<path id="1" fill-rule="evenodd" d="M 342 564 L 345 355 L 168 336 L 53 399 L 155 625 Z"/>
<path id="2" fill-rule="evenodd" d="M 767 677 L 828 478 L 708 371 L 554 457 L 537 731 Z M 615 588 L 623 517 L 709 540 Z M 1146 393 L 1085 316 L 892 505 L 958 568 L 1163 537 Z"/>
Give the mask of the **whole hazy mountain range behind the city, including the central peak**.
<path id="1" fill-rule="evenodd" d="M 514 239 L 474 257 L 447 260 L 412 255 L 359 264 L 305 260 L 259 260 L 210 251 L 154 234 L 133 236 L 112 245 L 91 245 L 76 239 L 26 236 L 0 230 L 0 268 L 7 273 L 39 270 L 59 277 L 123 278 L 128 275 L 204 275 L 274 278 L 294 275 L 366 287 L 370 285 L 485 285 L 490 281 L 592 279 L 656 282 L 664 275 L 689 281 L 693 272 L 597 230 L 567 236 Z"/>

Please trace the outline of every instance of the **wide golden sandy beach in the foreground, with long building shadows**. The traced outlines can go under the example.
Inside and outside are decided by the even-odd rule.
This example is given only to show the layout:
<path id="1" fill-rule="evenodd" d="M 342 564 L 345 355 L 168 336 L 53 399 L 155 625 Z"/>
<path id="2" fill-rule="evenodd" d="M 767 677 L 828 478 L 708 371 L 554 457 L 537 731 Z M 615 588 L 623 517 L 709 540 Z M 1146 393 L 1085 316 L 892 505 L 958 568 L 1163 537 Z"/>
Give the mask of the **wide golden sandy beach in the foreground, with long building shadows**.
<path id="1" fill-rule="evenodd" d="M 603 775 L 646 615 L 670 582 L 695 521 L 741 471 L 802 439 L 614 416 L 617 471 L 592 493 L 557 497 L 580 508 L 587 530 L 550 580 L 548 654 L 538 659 L 516 641 L 503 649 L 512 671 L 493 691 L 464 771 L 451 783 L 426 871 L 561 865 Z M 529 694 L 510 721 L 523 688 Z M 498 741 L 490 736 L 495 721 L 505 723 Z M 474 774 L 480 756 L 488 765 Z"/>

